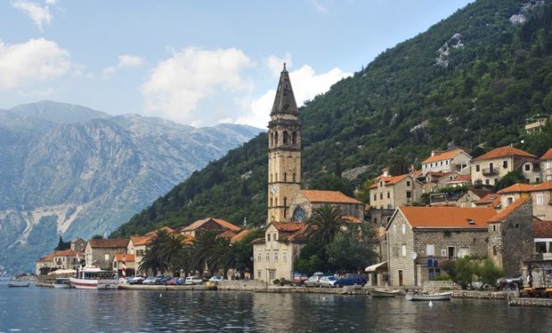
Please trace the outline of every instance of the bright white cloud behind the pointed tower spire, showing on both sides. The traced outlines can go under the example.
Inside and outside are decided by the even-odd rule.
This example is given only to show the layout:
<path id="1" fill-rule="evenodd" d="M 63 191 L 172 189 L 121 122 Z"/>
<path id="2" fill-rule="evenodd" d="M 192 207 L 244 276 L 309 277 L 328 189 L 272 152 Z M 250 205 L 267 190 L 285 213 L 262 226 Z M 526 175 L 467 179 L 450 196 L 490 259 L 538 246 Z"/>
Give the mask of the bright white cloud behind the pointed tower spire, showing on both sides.
<path id="1" fill-rule="evenodd" d="M 271 59 L 278 58 L 271 57 Z M 270 59 L 268 63 L 269 69 L 272 70 L 273 66 L 271 66 Z M 281 68 L 280 62 L 279 73 Z M 343 72 L 339 68 L 333 68 L 327 73 L 317 75 L 313 67 L 309 65 L 304 65 L 295 71 L 290 71 L 289 80 L 291 81 L 291 86 L 296 97 L 297 107 L 303 106 L 305 100 L 313 99 L 316 95 L 329 91 L 332 84 L 351 75 L 353 74 Z M 276 84 L 278 83 L 274 83 L 274 88 L 276 88 Z M 235 123 L 247 123 L 248 125 L 258 128 L 266 128 L 270 120 L 270 113 L 275 95 L 276 90 L 271 89 L 257 99 L 244 99 L 242 107 L 248 110 L 247 115 L 240 116 Z"/>

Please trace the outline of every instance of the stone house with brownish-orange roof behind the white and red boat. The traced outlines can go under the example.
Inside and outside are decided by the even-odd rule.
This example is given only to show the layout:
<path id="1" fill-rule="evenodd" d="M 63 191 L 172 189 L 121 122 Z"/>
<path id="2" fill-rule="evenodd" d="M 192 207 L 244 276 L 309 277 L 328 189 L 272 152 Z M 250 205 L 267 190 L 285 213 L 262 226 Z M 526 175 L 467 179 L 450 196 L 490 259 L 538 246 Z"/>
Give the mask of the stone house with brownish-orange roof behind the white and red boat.
<path id="1" fill-rule="evenodd" d="M 98 266 L 111 269 L 116 253 L 126 253 L 129 240 L 126 239 L 91 239 L 86 244 L 86 266 Z"/>

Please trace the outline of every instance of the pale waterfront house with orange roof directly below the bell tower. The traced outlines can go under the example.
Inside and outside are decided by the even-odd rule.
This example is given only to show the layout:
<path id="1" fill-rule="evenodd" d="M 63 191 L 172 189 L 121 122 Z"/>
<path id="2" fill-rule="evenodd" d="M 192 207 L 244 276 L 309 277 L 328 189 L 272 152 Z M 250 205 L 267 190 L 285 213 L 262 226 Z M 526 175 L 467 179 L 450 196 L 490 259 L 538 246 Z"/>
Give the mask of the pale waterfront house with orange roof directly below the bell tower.
<path id="1" fill-rule="evenodd" d="M 303 222 L 272 222 L 264 238 L 253 242 L 255 280 L 272 283 L 274 279 L 293 279 L 294 261 L 306 242 Z"/>

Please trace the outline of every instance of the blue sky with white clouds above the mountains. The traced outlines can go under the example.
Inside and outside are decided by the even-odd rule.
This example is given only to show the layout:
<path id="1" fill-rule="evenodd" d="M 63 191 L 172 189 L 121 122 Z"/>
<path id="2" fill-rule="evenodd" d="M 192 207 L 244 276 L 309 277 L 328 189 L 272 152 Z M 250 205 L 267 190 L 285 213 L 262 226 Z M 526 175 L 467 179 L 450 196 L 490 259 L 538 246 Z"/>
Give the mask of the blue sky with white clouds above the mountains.
<path id="1" fill-rule="evenodd" d="M 0 0 L 0 108 L 266 128 L 282 64 L 299 106 L 473 0 Z"/>

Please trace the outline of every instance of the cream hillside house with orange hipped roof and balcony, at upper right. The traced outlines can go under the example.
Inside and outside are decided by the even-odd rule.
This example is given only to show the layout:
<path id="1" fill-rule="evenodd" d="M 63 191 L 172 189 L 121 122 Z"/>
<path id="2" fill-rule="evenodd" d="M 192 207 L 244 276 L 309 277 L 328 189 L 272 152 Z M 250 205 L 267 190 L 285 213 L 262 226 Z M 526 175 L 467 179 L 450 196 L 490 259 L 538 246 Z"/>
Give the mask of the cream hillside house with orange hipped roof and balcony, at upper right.
<path id="1" fill-rule="evenodd" d="M 540 163 L 537 156 L 515 147 L 498 147 L 471 161 L 471 176 L 475 186 L 494 186 L 499 178 L 519 170 L 529 182 L 540 181 Z"/>

